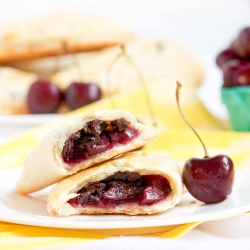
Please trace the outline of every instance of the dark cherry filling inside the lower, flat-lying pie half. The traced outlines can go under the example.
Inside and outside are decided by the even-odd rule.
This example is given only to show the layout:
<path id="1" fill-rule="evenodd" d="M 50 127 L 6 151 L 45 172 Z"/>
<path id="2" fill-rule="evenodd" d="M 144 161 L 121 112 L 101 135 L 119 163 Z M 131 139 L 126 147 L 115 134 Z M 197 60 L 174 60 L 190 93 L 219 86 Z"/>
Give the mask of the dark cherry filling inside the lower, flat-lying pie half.
<path id="1" fill-rule="evenodd" d="M 161 175 L 119 171 L 105 180 L 88 183 L 77 192 L 79 196 L 68 203 L 73 207 L 115 209 L 121 203 L 152 205 L 165 199 L 170 192 L 168 180 Z"/>

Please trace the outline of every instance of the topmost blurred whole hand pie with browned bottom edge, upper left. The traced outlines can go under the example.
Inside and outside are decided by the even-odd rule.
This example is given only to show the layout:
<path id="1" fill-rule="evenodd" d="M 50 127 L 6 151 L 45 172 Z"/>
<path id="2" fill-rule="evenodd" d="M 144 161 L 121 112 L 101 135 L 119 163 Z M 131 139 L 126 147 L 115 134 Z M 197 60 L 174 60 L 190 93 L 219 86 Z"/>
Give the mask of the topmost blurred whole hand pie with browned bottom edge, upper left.
<path id="1" fill-rule="evenodd" d="M 133 33 L 103 17 L 56 12 L 0 23 L 0 62 L 93 51 L 120 44 Z"/>

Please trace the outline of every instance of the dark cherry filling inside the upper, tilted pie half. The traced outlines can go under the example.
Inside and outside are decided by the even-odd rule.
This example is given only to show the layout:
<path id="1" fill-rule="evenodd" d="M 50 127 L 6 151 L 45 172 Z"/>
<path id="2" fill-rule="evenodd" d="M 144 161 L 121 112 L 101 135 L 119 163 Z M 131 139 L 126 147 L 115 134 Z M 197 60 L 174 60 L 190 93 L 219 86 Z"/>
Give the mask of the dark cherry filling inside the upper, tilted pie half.
<path id="1" fill-rule="evenodd" d="M 68 164 L 78 163 L 115 145 L 124 145 L 138 134 L 138 130 L 123 118 L 114 121 L 95 119 L 66 140 L 62 157 Z"/>

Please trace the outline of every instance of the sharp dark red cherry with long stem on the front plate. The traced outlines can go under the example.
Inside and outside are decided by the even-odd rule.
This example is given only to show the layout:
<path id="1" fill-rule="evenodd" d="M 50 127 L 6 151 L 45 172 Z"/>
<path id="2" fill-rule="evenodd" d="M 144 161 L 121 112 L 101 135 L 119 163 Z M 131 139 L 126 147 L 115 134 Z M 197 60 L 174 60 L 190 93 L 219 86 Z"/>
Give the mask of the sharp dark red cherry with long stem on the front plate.
<path id="1" fill-rule="evenodd" d="M 189 193 L 205 203 L 223 201 L 232 192 L 234 183 L 234 164 L 226 155 L 209 157 L 207 149 L 200 136 L 186 120 L 179 105 L 179 91 L 181 84 L 177 82 L 176 99 L 181 116 L 200 140 L 204 151 L 204 158 L 191 158 L 183 167 L 183 182 Z"/>

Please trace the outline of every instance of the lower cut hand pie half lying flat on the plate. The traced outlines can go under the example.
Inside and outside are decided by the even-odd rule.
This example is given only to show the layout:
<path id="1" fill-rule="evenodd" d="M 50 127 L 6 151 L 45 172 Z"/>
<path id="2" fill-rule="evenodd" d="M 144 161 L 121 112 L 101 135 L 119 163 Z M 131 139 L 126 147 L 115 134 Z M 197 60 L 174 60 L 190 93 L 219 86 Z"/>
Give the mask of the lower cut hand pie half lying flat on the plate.
<path id="1" fill-rule="evenodd" d="M 52 188 L 51 214 L 154 214 L 181 200 L 178 162 L 166 153 L 135 151 L 72 175 Z"/>

